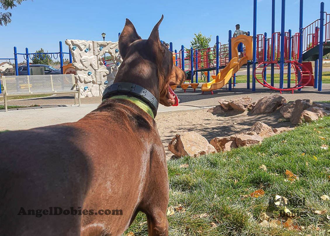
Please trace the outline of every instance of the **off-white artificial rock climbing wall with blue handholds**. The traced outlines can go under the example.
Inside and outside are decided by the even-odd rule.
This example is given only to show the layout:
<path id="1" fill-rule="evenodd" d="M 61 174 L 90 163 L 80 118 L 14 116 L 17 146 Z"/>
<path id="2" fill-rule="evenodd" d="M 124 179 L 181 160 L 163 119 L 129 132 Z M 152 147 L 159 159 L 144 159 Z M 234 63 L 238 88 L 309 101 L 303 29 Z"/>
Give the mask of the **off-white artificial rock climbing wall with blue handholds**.
<path id="1" fill-rule="evenodd" d="M 113 83 L 122 59 L 118 42 L 86 41 L 67 39 L 72 54 L 72 65 L 76 69 L 76 83 L 80 86 L 81 97 L 102 96 L 104 89 Z M 105 66 L 102 56 L 109 53 L 114 64 Z"/>

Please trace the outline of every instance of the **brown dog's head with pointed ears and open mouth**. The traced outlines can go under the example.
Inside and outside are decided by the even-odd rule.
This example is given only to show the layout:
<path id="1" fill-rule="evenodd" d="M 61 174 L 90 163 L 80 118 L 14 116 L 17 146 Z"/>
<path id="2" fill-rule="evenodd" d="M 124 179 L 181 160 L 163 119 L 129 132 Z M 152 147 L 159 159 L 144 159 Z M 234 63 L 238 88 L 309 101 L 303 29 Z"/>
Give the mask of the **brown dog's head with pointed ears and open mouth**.
<path id="1" fill-rule="evenodd" d="M 119 53 L 123 59 L 116 82 L 130 82 L 149 90 L 157 100 L 171 106 L 178 101 L 170 85 L 180 85 L 186 74 L 173 64 L 173 54 L 159 40 L 158 27 L 153 27 L 148 39 L 137 34 L 132 22 L 126 24 L 119 36 Z"/>

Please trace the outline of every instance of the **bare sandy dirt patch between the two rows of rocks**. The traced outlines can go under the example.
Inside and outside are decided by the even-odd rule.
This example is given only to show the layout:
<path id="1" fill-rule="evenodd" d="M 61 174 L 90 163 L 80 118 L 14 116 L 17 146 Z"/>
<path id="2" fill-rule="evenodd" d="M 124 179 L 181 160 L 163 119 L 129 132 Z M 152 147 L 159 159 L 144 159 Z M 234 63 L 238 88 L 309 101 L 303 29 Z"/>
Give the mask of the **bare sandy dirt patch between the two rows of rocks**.
<path id="1" fill-rule="evenodd" d="M 272 114 L 251 115 L 247 111 L 237 113 L 229 111 L 213 115 L 208 109 L 186 112 L 158 113 L 155 120 L 159 136 L 163 142 L 166 158 L 173 154 L 168 150 L 168 143 L 179 132 L 195 131 L 208 141 L 215 137 L 230 136 L 235 133 L 248 131 L 257 121 L 261 121 L 272 128 L 288 127 L 289 121 L 281 122 L 279 110 Z M 291 125 L 292 126 L 292 125 Z"/>

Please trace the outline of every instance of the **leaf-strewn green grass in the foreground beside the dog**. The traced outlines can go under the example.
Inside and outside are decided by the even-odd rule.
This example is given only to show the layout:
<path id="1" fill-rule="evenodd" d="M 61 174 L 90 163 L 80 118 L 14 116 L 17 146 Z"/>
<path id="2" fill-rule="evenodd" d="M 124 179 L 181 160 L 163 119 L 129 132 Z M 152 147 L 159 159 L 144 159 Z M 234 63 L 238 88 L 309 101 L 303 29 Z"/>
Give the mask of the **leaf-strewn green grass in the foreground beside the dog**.
<path id="1" fill-rule="evenodd" d="M 330 145 L 330 117 L 259 145 L 169 160 L 169 206 L 178 209 L 168 217 L 169 235 L 329 235 L 330 201 L 320 199 L 330 195 L 330 151 L 321 148 L 324 144 Z M 286 170 L 299 179 L 286 179 Z M 245 196 L 258 189 L 265 194 Z M 271 219 L 277 219 L 283 210 L 274 205 L 276 195 L 289 200 L 287 208 L 297 214 L 292 221 L 301 231 L 259 224 L 260 214 L 272 212 Z M 318 215 L 315 210 L 328 212 Z M 283 213 L 278 219 L 284 224 L 288 218 Z M 145 221 L 139 213 L 124 235 L 148 235 Z"/>

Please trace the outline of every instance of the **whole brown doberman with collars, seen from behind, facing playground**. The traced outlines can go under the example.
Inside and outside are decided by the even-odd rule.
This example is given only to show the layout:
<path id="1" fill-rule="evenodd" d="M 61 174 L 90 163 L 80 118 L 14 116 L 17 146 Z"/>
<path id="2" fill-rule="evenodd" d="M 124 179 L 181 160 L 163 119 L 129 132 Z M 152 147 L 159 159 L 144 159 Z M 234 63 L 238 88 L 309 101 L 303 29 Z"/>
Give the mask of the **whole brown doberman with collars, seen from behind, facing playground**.
<path id="1" fill-rule="evenodd" d="M 153 116 L 158 102 L 176 103 L 170 85 L 186 76 L 159 40 L 162 19 L 147 40 L 126 19 L 112 88 L 120 86 L 96 110 L 0 134 L 0 235 L 121 235 L 139 211 L 149 235 L 168 235 L 167 163 Z"/>

